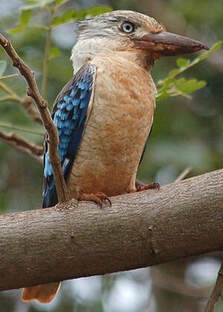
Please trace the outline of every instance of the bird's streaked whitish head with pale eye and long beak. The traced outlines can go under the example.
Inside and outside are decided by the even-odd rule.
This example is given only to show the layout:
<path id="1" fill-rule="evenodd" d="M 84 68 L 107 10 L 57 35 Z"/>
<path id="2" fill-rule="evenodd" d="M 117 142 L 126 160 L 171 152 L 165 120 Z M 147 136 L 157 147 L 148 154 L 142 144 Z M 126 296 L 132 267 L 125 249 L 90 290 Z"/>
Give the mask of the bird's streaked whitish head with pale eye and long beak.
<path id="1" fill-rule="evenodd" d="M 75 71 L 99 54 L 122 52 L 151 67 L 161 56 L 208 49 L 199 41 L 167 32 L 154 18 L 133 11 L 101 14 L 80 21 L 78 26 L 71 56 Z"/>

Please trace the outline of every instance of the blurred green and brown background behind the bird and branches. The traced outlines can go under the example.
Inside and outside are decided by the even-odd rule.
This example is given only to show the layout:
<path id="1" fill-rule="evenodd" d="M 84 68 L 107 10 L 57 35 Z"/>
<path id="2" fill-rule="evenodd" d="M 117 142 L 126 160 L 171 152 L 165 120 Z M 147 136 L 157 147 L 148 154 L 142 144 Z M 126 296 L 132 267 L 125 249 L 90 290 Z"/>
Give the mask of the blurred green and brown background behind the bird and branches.
<path id="1" fill-rule="evenodd" d="M 20 0 L 0 1 L 1 32 L 7 34 L 8 29 L 17 26 L 22 5 L 24 2 Z M 151 15 L 168 31 L 198 39 L 208 46 L 223 38 L 222 0 L 212 3 L 208 0 L 71 0 L 61 7 L 61 12 L 95 5 Z M 33 23 L 44 24 L 48 18 L 43 11 L 34 15 Z M 49 63 L 47 99 L 50 105 L 72 77 L 69 57 L 75 37 L 74 23 L 53 30 L 52 46 L 60 52 Z M 10 38 L 20 56 L 35 71 L 41 86 L 46 33 L 27 27 Z M 7 59 L 2 50 L 0 59 Z M 9 59 L 7 62 L 10 63 Z M 157 62 L 152 71 L 155 82 L 165 78 L 175 63 L 174 57 Z M 14 72 L 8 66 L 7 74 Z M 138 174 L 145 182 L 171 183 L 187 167 L 192 168 L 188 176 L 223 167 L 223 50 L 216 51 L 183 76 L 206 80 L 207 86 L 195 92 L 191 99 L 174 97 L 158 103 L 152 135 Z M 22 78 L 11 78 L 7 84 L 19 95 L 25 95 Z M 1 122 L 42 131 L 18 103 L 5 101 L 0 104 Z M 42 135 L 19 134 L 42 144 Z M 0 212 L 39 208 L 42 171 L 38 162 L 0 142 Z M 0 311 L 199 312 L 203 311 L 214 286 L 222 258 L 221 254 L 207 255 L 153 268 L 65 281 L 57 298 L 48 305 L 23 303 L 21 290 L 0 292 Z M 223 302 L 219 301 L 216 311 L 222 309 Z"/>

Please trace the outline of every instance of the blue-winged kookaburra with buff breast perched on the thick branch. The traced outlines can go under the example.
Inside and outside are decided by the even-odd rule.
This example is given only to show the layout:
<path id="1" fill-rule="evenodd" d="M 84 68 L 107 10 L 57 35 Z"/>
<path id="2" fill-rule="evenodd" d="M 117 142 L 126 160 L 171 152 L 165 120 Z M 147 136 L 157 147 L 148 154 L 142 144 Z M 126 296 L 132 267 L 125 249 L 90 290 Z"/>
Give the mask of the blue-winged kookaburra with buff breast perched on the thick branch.
<path id="1" fill-rule="evenodd" d="M 134 11 L 78 21 L 71 54 L 74 75 L 52 110 L 71 198 L 101 204 L 111 196 L 143 189 L 136 174 L 156 106 L 151 68 L 160 57 L 202 49 L 208 47 L 167 32 L 153 17 Z M 46 139 L 43 208 L 57 202 Z M 59 282 L 27 287 L 22 298 L 48 303 L 59 287 Z"/>

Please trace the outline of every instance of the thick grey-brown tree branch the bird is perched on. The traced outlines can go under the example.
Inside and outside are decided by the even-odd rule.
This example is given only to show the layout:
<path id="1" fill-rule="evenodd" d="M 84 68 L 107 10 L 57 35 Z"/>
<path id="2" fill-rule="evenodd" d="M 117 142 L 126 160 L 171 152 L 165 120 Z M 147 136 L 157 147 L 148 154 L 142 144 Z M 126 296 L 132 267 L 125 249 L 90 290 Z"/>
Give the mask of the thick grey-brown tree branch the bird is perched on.
<path id="1" fill-rule="evenodd" d="M 158 190 L 0 216 L 0 289 L 223 249 L 223 170 Z"/>

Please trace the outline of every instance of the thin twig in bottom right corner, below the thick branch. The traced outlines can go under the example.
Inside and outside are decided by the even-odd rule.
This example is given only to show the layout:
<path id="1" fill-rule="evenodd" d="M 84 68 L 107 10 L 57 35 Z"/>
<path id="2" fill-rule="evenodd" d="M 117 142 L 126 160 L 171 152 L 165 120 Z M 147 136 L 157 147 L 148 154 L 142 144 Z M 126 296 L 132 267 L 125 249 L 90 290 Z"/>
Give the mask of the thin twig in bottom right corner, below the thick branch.
<path id="1" fill-rule="evenodd" d="M 214 312 L 215 304 L 217 303 L 219 297 L 222 296 L 223 291 L 223 264 L 218 272 L 218 278 L 215 287 L 212 291 L 211 296 L 208 299 L 208 303 L 205 308 L 205 312 Z"/>

